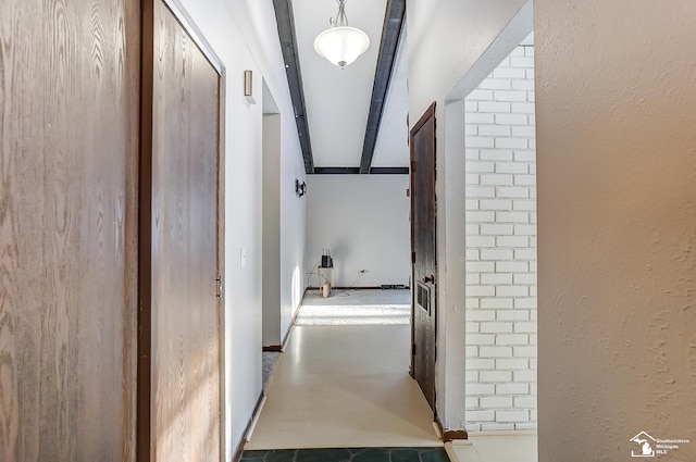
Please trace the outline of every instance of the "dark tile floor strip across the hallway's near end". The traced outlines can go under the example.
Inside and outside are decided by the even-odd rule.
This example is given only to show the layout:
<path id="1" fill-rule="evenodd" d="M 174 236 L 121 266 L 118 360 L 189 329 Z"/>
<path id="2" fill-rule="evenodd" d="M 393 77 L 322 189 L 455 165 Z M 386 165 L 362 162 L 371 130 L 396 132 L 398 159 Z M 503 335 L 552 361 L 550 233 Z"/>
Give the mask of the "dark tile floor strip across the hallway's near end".
<path id="1" fill-rule="evenodd" d="M 240 462 L 449 462 L 444 448 L 275 449 L 244 451 Z"/>

